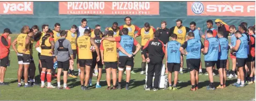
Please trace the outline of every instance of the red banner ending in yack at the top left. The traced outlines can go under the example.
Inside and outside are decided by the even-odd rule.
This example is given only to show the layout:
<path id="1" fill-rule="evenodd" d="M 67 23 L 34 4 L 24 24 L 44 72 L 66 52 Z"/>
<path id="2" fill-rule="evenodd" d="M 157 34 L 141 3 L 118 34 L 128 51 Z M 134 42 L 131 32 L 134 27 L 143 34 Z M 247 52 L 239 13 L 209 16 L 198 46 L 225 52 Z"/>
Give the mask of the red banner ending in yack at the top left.
<path id="1" fill-rule="evenodd" d="M 33 14 L 33 2 L 0 2 L 0 14 Z"/>

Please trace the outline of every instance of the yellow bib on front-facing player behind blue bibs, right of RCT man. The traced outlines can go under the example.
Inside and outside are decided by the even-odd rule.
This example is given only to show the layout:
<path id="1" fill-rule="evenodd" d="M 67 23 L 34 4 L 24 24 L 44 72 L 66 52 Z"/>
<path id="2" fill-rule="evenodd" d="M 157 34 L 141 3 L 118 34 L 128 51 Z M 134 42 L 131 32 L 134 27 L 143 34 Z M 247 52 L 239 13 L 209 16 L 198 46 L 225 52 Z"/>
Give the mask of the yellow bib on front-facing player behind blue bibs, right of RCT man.
<path id="1" fill-rule="evenodd" d="M 177 41 L 181 44 L 183 44 L 185 42 L 185 37 L 186 37 L 186 27 L 182 27 L 180 29 L 178 29 L 177 26 L 175 26 L 174 28 L 174 31 L 173 31 L 174 34 L 177 35 Z"/>

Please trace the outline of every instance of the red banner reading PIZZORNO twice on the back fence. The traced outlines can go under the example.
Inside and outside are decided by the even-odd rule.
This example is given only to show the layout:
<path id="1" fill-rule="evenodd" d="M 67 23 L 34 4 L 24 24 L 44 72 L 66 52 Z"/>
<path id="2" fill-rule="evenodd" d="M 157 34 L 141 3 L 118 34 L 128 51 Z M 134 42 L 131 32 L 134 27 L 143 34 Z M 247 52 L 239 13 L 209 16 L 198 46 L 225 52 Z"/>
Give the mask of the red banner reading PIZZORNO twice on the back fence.
<path id="1" fill-rule="evenodd" d="M 59 2 L 59 14 L 159 15 L 159 2 Z"/>

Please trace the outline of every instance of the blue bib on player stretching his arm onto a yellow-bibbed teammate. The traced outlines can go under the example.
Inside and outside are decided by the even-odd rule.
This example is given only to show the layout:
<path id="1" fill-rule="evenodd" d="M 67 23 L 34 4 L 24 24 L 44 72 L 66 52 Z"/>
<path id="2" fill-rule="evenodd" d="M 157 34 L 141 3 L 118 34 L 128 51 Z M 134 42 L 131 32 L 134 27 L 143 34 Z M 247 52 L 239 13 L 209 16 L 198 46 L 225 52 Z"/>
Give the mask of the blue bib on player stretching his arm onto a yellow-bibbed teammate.
<path id="1" fill-rule="evenodd" d="M 128 53 L 128 54 L 132 54 L 132 47 L 133 47 L 133 43 L 134 40 L 131 36 L 128 35 L 123 35 L 120 36 L 121 40 L 120 40 L 120 45 L 124 48 L 124 50 Z M 124 53 L 122 53 L 121 51 L 119 51 L 119 56 L 127 56 Z"/>

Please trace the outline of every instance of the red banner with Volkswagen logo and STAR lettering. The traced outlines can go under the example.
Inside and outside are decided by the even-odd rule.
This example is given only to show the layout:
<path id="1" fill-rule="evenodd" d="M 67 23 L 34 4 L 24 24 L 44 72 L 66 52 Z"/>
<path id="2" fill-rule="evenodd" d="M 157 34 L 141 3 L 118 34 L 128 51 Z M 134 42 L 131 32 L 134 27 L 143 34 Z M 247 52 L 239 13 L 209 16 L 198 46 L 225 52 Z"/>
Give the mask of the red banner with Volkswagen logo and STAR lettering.
<path id="1" fill-rule="evenodd" d="M 188 15 L 255 16 L 255 2 L 187 2 Z"/>

